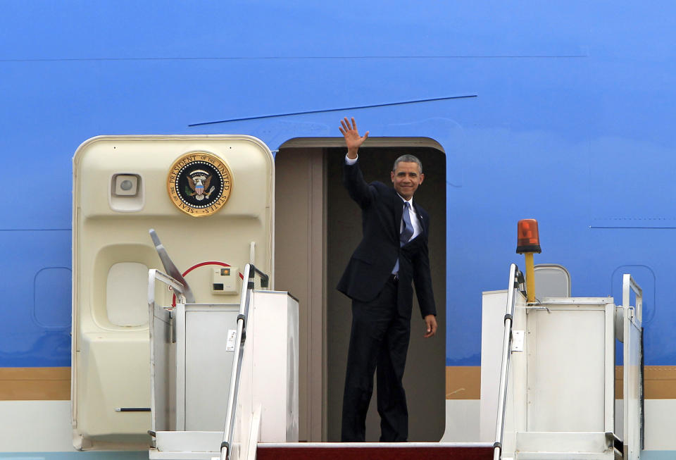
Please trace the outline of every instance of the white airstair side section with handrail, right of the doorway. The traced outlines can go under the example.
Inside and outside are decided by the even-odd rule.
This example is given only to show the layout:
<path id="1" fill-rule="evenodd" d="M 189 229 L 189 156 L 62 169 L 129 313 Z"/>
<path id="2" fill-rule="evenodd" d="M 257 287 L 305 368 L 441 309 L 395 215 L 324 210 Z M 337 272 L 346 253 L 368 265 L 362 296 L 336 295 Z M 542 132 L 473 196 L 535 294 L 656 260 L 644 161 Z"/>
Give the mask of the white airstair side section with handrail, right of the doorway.
<path id="1" fill-rule="evenodd" d="M 625 274 L 619 305 L 612 297 L 528 303 L 523 281 L 512 264 L 508 290 L 483 297 L 481 430 L 495 433 L 494 458 L 638 459 L 641 288 Z M 622 394 L 615 393 L 616 349 Z M 497 398 L 484 398 L 484 390 Z"/>

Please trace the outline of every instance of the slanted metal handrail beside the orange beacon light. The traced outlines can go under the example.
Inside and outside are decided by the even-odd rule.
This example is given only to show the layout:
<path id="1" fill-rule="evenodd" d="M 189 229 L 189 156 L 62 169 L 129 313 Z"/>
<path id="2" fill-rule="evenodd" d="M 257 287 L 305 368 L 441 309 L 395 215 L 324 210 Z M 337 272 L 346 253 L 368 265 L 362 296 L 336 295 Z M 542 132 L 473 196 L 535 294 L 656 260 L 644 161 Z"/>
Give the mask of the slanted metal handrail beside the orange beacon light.
<path id="1" fill-rule="evenodd" d="M 502 366 L 500 369 L 500 387 L 498 394 L 498 416 L 495 426 L 495 442 L 493 444 L 493 459 L 502 458 L 502 443 L 505 436 L 505 416 L 507 405 L 507 387 L 509 381 L 509 359 L 512 354 L 512 323 L 514 318 L 515 290 L 520 289 L 524 282 L 523 274 L 518 266 L 512 263 L 509 266 L 509 284 L 507 288 L 507 306 L 505 312 L 505 332 L 502 342 Z"/>

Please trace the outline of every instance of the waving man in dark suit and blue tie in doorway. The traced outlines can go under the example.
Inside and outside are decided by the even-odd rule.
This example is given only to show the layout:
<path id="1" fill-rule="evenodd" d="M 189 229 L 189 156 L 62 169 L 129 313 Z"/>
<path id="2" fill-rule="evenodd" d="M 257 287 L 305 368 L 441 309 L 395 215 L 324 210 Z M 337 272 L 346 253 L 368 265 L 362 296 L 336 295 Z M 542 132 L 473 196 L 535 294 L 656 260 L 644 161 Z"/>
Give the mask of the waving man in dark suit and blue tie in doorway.
<path id="1" fill-rule="evenodd" d="M 354 118 L 341 120 L 347 155 L 343 183 L 361 208 L 363 237 L 338 283 L 352 299 L 352 329 L 343 396 L 342 441 L 363 441 L 377 368 L 380 441 L 406 441 L 408 409 L 402 378 L 411 335 L 413 287 L 425 321 L 424 337 L 437 332 L 427 236 L 430 216 L 413 194 L 423 165 L 413 155 L 396 158 L 390 177 L 367 184 L 359 168 L 360 136 Z"/>

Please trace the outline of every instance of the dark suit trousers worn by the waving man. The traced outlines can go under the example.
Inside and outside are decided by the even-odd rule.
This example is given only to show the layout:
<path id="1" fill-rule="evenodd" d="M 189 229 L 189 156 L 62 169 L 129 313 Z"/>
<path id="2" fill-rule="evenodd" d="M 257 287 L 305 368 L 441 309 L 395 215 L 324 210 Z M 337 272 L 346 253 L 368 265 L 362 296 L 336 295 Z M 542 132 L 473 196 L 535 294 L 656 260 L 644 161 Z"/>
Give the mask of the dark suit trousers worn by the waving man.
<path id="1" fill-rule="evenodd" d="M 408 438 L 408 409 L 401 380 L 411 337 L 411 317 L 410 313 L 407 316 L 400 313 L 397 290 L 396 281 L 389 280 L 372 302 L 352 301 L 343 395 L 343 442 L 365 439 L 366 412 L 376 368 L 380 441 L 403 442 Z M 404 310 L 410 312 L 411 308 Z"/>

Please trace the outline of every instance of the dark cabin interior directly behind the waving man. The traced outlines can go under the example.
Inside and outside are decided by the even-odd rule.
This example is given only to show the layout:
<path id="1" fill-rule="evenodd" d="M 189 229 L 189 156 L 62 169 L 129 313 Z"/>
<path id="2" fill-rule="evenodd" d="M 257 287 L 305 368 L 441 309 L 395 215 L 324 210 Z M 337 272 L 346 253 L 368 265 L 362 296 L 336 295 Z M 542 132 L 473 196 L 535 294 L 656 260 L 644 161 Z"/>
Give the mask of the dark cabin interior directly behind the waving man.
<path id="1" fill-rule="evenodd" d="M 413 198 L 430 213 L 430 266 L 437 302 L 437 336 L 423 339 L 424 323 L 414 299 L 411 344 L 404 387 L 408 403 L 409 441 L 439 441 L 444 434 L 446 358 L 446 156 L 429 147 L 371 147 L 359 151 L 367 182 L 390 184 L 394 160 L 413 154 L 423 163 L 425 180 Z M 327 440 L 340 440 L 345 365 L 351 325 L 351 302 L 335 289 L 352 251 L 361 240 L 361 213 L 342 186 L 344 148 L 327 149 Z M 374 385 L 375 387 L 375 385 Z M 373 392 L 366 420 L 366 440 L 380 437 L 380 417 Z"/>

